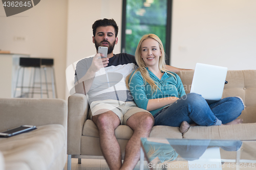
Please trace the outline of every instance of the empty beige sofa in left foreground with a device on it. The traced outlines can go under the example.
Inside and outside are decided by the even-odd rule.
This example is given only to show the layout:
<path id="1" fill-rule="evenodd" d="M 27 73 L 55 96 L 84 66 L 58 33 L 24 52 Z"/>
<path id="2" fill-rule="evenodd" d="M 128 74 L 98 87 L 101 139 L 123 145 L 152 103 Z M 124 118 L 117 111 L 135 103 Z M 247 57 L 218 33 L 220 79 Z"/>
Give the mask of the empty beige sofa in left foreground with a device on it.
<path id="1" fill-rule="evenodd" d="M 0 138 L 0 169 L 60 170 L 64 168 L 67 160 L 68 108 L 66 101 L 0 99 L 0 108 L 1 132 L 22 125 L 37 127 L 36 130 L 28 133 Z"/>

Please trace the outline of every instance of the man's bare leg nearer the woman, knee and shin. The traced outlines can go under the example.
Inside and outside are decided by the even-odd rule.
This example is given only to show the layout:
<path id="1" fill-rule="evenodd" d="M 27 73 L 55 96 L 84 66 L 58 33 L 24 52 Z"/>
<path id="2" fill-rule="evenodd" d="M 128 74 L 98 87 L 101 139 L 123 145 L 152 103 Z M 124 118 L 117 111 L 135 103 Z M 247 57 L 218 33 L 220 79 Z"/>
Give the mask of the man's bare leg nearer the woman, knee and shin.
<path id="1" fill-rule="evenodd" d="M 150 135 L 154 117 L 147 112 L 138 112 L 127 120 L 126 125 L 131 127 L 134 133 L 126 144 L 121 169 L 134 169 L 140 158 L 140 138 Z"/>

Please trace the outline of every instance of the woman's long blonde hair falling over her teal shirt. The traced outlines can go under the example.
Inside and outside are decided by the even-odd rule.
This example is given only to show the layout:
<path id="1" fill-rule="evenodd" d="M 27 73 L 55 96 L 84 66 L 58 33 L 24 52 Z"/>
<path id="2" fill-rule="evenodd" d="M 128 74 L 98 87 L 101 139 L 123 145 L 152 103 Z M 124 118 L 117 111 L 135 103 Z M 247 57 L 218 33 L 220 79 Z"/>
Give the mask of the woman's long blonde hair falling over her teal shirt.
<path id="1" fill-rule="evenodd" d="M 139 42 L 139 44 L 138 44 L 138 46 L 137 46 L 137 49 L 136 49 L 136 52 L 135 52 L 135 59 L 136 59 L 136 62 L 137 62 L 137 64 L 138 64 L 138 66 L 139 66 L 139 68 L 136 69 L 135 72 L 136 72 L 136 71 L 140 71 L 141 76 L 142 76 L 142 78 L 143 78 L 143 80 L 144 80 L 144 83 L 147 82 L 148 84 L 150 84 L 151 89 L 153 89 L 153 92 L 154 92 L 154 91 L 157 90 L 157 88 L 159 89 L 159 87 L 156 85 L 156 83 L 154 82 L 154 80 L 152 80 L 152 78 L 150 77 L 150 74 L 148 73 L 148 71 L 147 71 L 147 69 L 146 69 L 145 62 L 144 62 L 144 60 L 141 58 L 141 43 L 142 43 L 145 39 L 148 39 L 148 38 L 152 38 L 152 39 L 154 39 L 154 40 L 156 40 L 156 41 L 158 42 L 159 47 L 160 47 L 160 51 L 161 51 L 161 53 L 162 53 L 162 56 L 160 56 L 160 58 L 159 58 L 158 67 L 159 67 L 159 70 L 160 70 L 160 71 L 167 71 L 167 70 L 165 69 L 165 53 L 164 53 L 164 48 L 163 48 L 163 43 L 162 43 L 162 41 L 161 41 L 160 38 L 159 38 L 157 35 L 155 35 L 155 34 L 146 34 L 146 35 L 144 35 L 144 36 L 141 37 L 140 42 Z M 134 72 L 134 74 L 135 74 L 135 72 Z M 169 73 L 170 73 L 170 72 L 169 72 Z M 171 74 L 171 73 L 170 73 L 170 74 Z M 174 76 L 173 74 L 171 74 L 171 75 Z M 126 86 L 127 86 L 128 89 L 130 89 L 130 88 L 129 88 L 129 84 L 130 84 L 130 83 L 129 83 L 129 78 L 130 78 L 130 76 L 131 76 L 131 75 L 127 76 L 127 78 L 126 78 Z M 131 77 L 131 80 L 132 80 L 132 78 L 133 78 L 133 76 Z M 175 76 L 174 76 L 174 78 L 175 78 Z M 152 93 L 153 93 L 153 92 L 152 92 Z"/>

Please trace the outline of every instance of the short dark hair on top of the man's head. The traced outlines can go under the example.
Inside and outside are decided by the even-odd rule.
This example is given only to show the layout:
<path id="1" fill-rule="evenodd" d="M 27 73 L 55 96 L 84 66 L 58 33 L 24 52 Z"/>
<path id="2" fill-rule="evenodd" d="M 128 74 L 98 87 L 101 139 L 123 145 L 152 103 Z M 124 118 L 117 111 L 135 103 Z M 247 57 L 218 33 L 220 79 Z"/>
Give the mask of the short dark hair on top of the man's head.
<path id="1" fill-rule="evenodd" d="M 112 19 L 99 19 L 99 20 L 96 20 L 94 23 L 93 23 L 93 36 L 95 37 L 95 34 L 96 34 L 96 29 L 98 27 L 106 27 L 106 26 L 113 26 L 114 29 L 115 29 L 115 36 L 117 37 L 117 34 L 118 34 L 118 26 L 116 24 L 116 21 L 112 18 Z"/>

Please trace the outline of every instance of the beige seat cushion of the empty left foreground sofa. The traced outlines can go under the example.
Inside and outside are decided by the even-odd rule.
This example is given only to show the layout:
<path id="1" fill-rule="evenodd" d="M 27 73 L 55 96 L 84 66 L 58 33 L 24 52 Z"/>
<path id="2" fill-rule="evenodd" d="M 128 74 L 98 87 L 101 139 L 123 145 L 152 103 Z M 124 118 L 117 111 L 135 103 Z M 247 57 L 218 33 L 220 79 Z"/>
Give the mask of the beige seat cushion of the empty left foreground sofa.
<path id="1" fill-rule="evenodd" d="M 5 157 L 6 167 L 10 167 L 8 170 L 17 170 L 18 167 L 49 169 L 63 150 L 67 152 L 66 138 L 62 125 L 39 126 L 28 133 L 0 138 L 0 151 Z"/>

